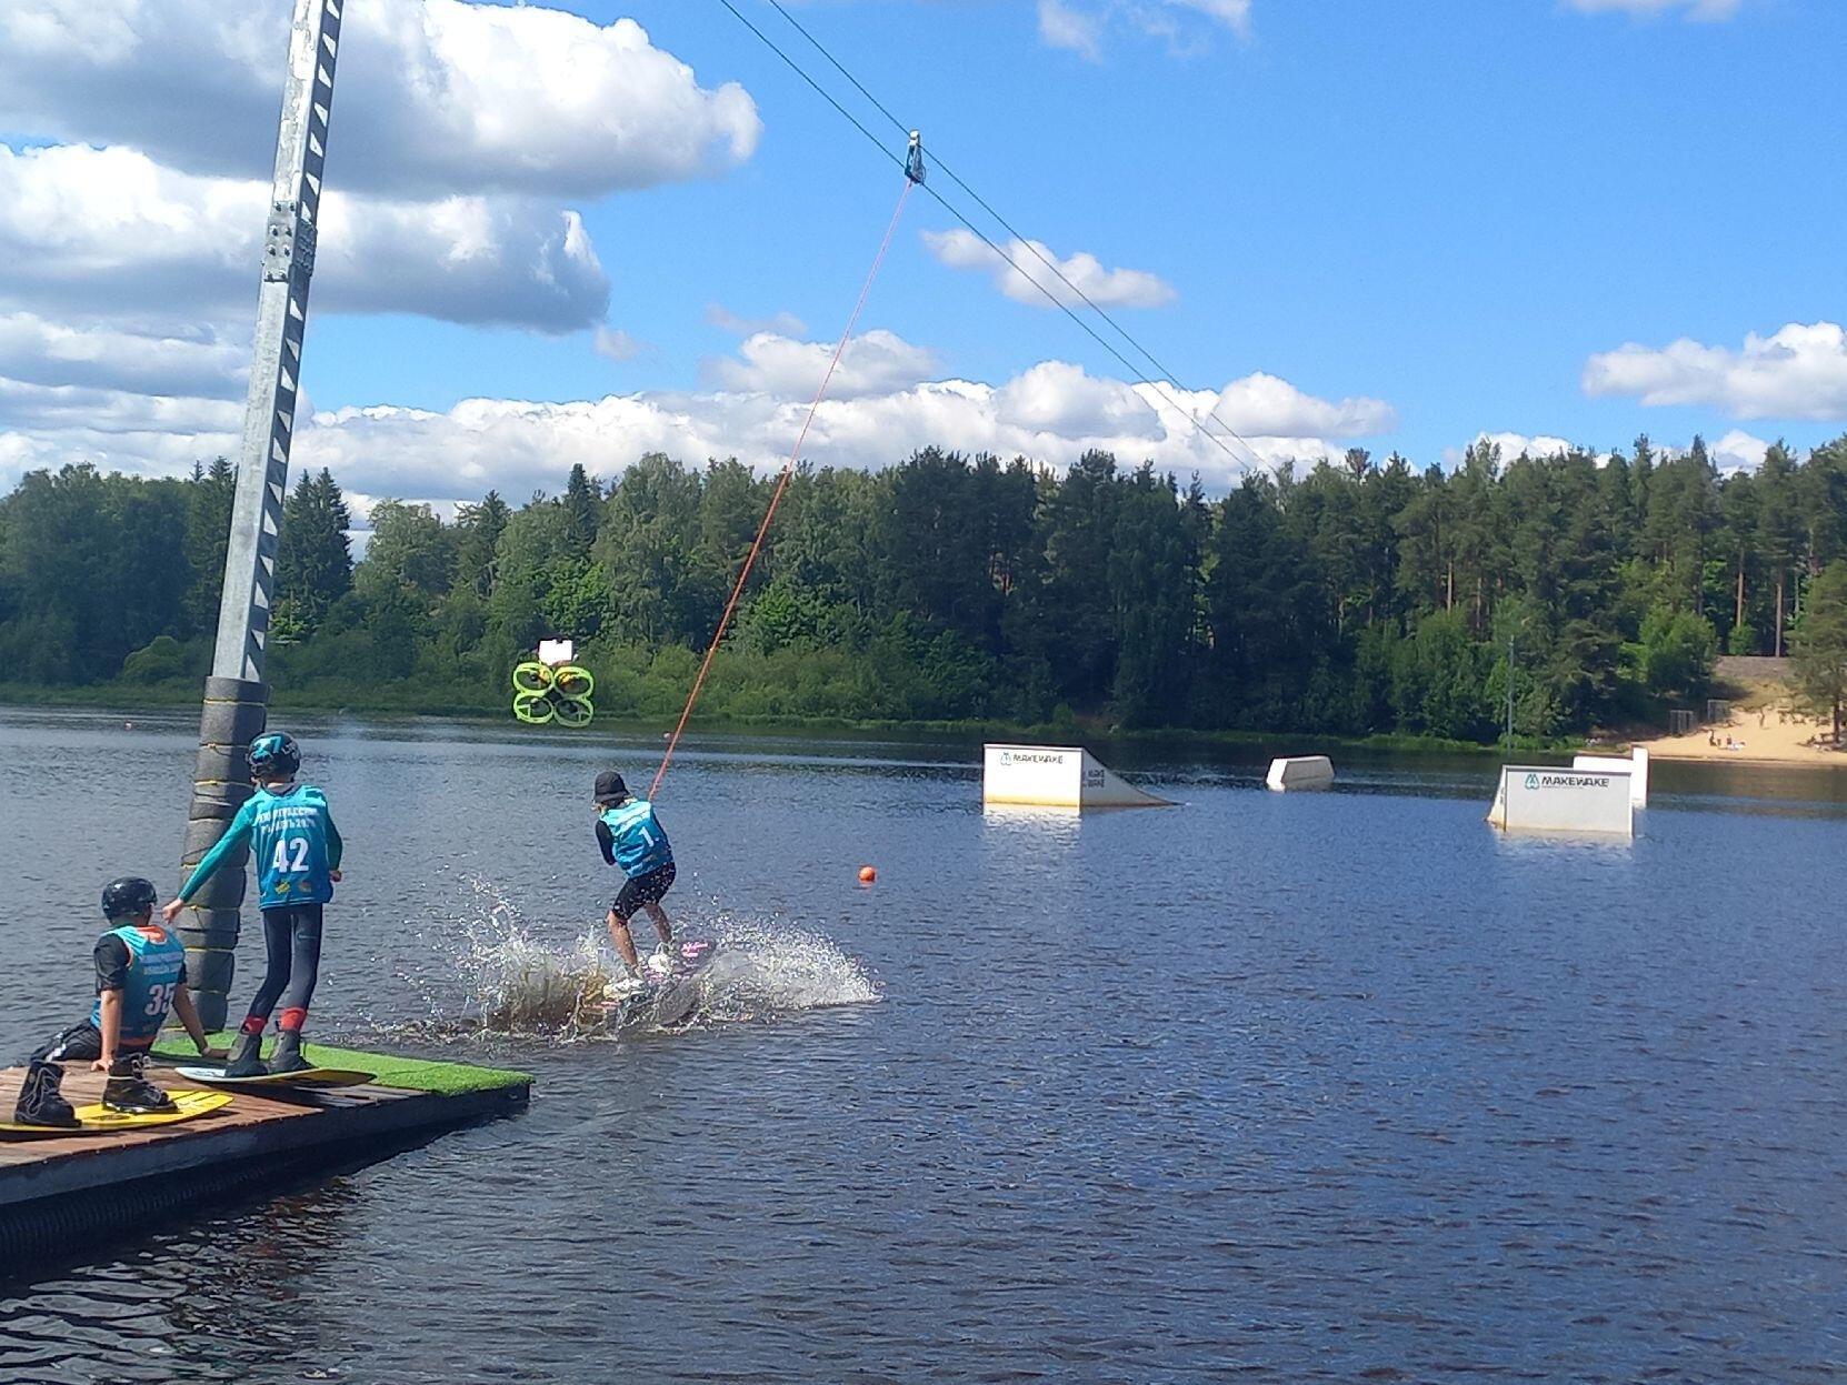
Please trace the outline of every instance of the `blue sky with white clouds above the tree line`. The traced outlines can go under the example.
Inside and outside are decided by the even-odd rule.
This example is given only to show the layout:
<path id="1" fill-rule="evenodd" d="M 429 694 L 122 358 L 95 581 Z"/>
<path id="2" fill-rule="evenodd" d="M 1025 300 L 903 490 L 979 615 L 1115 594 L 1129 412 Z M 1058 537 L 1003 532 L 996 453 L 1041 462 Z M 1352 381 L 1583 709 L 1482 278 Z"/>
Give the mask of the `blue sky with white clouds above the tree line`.
<path id="1" fill-rule="evenodd" d="M 236 456 L 290 11 L 0 7 L 0 491 Z M 347 0 L 294 465 L 768 475 L 863 292 L 815 465 L 1801 454 L 1841 54 L 1840 0 Z"/>

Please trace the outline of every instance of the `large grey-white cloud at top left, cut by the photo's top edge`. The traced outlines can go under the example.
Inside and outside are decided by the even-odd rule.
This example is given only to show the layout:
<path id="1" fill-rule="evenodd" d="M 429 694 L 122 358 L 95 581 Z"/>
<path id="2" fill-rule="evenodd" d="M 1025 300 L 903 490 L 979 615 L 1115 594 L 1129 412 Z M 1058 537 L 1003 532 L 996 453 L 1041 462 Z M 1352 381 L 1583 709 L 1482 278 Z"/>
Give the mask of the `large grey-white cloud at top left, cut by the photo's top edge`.
<path id="1" fill-rule="evenodd" d="M 290 0 L 7 0 L 0 129 L 133 144 L 268 177 Z M 392 198 L 600 196 L 711 177 L 757 148 L 737 85 L 706 90 L 628 18 L 366 0 L 344 11 L 329 179 Z"/>

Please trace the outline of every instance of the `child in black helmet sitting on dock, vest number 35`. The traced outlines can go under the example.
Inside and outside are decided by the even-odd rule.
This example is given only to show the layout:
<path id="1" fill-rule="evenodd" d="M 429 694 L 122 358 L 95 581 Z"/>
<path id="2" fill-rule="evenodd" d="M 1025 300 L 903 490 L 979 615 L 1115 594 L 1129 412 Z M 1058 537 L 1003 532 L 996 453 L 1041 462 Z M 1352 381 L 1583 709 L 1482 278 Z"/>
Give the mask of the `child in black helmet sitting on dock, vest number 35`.
<path id="1" fill-rule="evenodd" d="M 20 1125 L 76 1128 L 78 1114 L 65 1101 L 61 1084 L 66 1060 L 89 1062 L 109 1073 L 103 1106 L 113 1112 L 170 1112 L 174 1102 L 148 1082 L 148 1049 L 172 1008 L 207 1058 L 222 1058 L 199 1025 L 199 1012 L 187 990 L 187 949 L 153 921 L 159 896 L 150 881 L 124 875 L 103 886 L 103 918 L 109 931 L 96 940 L 96 1005 L 91 1018 L 72 1025 L 26 1064 L 13 1119 Z"/>

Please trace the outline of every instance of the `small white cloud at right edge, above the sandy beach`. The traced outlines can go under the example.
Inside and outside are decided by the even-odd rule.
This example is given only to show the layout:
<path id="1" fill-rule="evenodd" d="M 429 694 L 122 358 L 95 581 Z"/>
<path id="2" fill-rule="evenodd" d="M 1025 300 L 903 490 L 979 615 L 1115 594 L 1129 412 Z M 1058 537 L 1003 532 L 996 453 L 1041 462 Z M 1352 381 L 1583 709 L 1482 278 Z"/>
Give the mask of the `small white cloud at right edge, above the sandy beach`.
<path id="1" fill-rule="evenodd" d="M 1590 356 L 1588 395 L 1627 395 L 1644 404 L 1705 404 L 1734 419 L 1847 417 L 1847 332 L 1840 323 L 1790 323 L 1773 336 L 1745 336 L 1742 351 L 1686 338 L 1653 349 L 1629 342 Z"/>

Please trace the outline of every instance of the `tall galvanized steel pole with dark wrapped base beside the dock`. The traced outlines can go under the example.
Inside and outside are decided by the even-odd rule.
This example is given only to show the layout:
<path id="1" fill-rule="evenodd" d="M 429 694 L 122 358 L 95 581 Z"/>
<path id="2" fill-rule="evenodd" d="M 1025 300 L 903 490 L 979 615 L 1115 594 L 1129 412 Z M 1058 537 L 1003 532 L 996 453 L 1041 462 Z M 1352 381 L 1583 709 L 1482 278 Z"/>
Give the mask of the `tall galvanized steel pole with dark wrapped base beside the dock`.
<path id="1" fill-rule="evenodd" d="M 275 545 L 288 493 L 288 445 L 301 386 L 301 336 L 308 325 L 308 279 L 334 100 L 334 57 L 345 0 L 296 0 L 288 81 L 275 140 L 275 179 L 257 295 L 257 345 L 244 404 L 231 543 L 218 604 L 218 644 L 205 680 L 199 757 L 181 872 L 190 873 L 251 794 L 244 752 L 262 733 L 270 691 L 262 683 L 275 591 Z M 247 859 L 247 857 L 246 857 Z M 179 934 L 207 1029 L 222 1029 L 236 966 L 238 907 L 246 859 L 225 862 L 192 901 Z"/>

